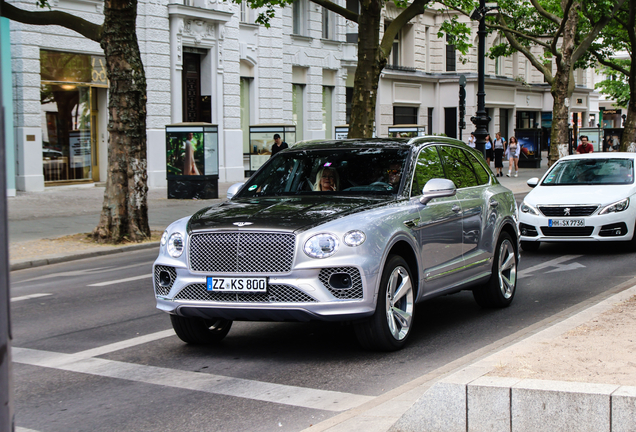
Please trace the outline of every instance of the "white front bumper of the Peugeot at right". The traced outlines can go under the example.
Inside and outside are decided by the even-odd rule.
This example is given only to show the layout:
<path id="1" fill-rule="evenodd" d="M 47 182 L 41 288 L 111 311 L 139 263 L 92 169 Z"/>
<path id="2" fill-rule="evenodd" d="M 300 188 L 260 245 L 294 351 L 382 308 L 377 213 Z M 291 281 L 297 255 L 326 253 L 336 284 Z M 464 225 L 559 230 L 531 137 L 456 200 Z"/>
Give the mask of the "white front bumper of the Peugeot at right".
<path id="1" fill-rule="evenodd" d="M 584 227 L 550 227 L 550 220 L 583 219 Z M 520 214 L 520 240 L 527 242 L 629 241 L 634 236 L 634 217 L 627 212 L 605 215 L 546 217 Z"/>

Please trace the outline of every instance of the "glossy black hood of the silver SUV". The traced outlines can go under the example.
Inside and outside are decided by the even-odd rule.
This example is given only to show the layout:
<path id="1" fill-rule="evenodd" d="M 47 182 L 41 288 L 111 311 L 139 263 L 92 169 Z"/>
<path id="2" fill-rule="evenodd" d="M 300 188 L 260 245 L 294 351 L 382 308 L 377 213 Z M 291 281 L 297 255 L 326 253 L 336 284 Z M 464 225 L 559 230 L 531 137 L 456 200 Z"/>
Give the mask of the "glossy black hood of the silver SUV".
<path id="1" fill-rule="evenodd" d="M 195 213 L 188 231 L 266 229 L 296 231 L 395 201 L 358 197 L 269 197 L 233 199 Z"/>

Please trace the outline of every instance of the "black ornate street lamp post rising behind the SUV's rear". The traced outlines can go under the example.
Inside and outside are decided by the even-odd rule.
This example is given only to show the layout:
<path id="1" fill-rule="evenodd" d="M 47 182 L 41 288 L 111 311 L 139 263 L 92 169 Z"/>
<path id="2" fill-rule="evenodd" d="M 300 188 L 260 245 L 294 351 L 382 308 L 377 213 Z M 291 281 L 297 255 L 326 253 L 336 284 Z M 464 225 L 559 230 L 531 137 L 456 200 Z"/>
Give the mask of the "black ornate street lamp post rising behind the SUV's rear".
<path id="1" fill-rule="evenodd" d="M 486 58 L 486 14 L 497 9 L 496 3 L 486 3 L 485 0 L 479 0 L 479 7 L 473 10 L 470 18 L 479 21 L 479 30 L 477 35 L 479 43 L 477 48 L 477 115 L 471 117 L 470 120 L 475 125 L 475 147 L 484 153 L 486 144 L 486 136 L 488 135 L 488 123 L 490 117 L 486 112 L 486 90 L 484 89 L 485 75 L 485 58 Z M 484 155 L 485 156 L 485 155 Z"/>

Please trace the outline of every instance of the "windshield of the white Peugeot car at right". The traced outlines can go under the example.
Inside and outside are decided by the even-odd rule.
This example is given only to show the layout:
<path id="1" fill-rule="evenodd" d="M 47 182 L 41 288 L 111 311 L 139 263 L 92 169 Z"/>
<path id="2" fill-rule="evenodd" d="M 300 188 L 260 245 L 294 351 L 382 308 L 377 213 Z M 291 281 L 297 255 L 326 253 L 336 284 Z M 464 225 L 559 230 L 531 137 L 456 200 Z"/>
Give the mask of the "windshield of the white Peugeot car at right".
<path id="1" fill-rule="evenodd" d="M 556 185 L 631 184 L 632 159 L 572 159 L 560 161 L 541 183 Z"/>

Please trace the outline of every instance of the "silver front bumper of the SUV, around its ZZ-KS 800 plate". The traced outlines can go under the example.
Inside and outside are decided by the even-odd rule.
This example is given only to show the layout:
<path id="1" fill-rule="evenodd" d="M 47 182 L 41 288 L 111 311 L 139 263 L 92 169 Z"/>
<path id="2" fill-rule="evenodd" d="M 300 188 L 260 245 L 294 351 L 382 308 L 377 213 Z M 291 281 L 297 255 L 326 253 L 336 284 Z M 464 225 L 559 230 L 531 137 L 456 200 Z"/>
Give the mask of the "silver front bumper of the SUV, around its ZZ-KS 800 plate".
<path id="1" fill-rule="evenodd" d="M 375 311 L 378 274 L 355 265 L 292 269 L 285 275 L 224 274 L 267 277 L 268 291 L 216 293 L 207 291 L 206 278 L 218 275 L 193 273 L 175 264 L 159 258 L 153 268 L 157 308 L 170 314 L 238 321 L 348 321 Z M 335 283 L 341 275 L 350 277 L 350 287 Z"/>

